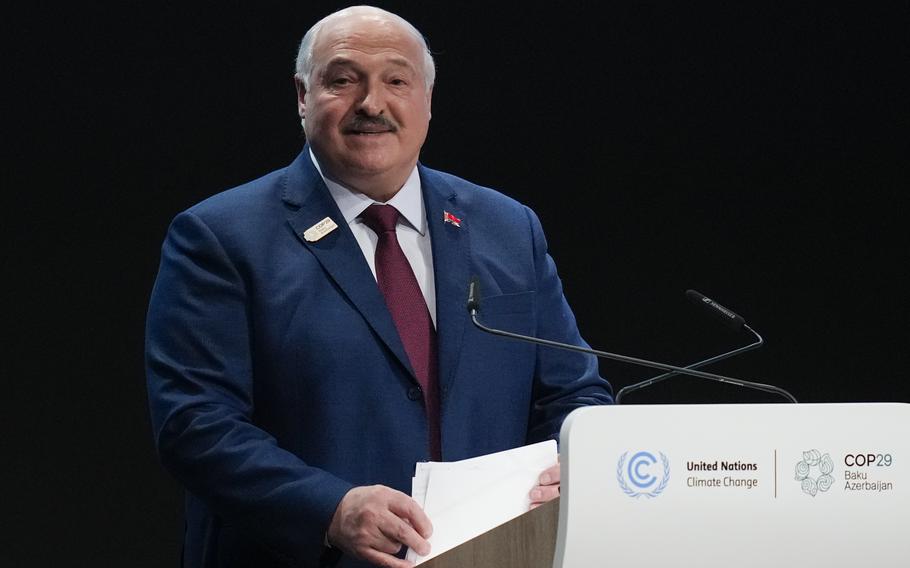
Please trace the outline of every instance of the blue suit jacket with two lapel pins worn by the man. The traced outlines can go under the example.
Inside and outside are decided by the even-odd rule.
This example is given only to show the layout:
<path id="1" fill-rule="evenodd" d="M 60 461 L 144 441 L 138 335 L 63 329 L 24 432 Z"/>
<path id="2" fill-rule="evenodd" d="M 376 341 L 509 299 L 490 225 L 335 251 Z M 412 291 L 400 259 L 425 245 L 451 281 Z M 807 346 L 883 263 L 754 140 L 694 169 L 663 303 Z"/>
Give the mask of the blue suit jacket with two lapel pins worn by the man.
<path id="1" fill-rule="evenodd" d="M 482 319 L 583 344 L 534 213 L 419 166 L 436 282 L 442 453 L 558 436 L 612 401 L 596 359 L 484 334 Z M 448 211 L 461 226 L 443 222 Z M 325 217 L 338 229 L 303 233 Z M 151 416 L 187 489 L 187 566 L 317 566 L 352 486 L 410 492 L 428 458 L 423 402 L 381 292 L 309 159 L 178 215 L 146 337 Z M 342 559 L 342 565 L 360 565 Z"/>

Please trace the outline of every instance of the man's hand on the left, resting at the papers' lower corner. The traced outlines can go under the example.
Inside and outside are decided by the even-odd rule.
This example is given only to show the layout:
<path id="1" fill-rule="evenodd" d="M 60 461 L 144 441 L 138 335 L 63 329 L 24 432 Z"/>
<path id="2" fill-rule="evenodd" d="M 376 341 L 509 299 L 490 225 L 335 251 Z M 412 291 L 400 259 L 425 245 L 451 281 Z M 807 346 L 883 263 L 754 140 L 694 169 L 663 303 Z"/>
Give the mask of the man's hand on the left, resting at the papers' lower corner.
<path id="1" fill-rule="evenodd" d="M 384 485 L 355 487 L 335 509 L 328 537 L 332 546 L 376 566 L 408 568 L 395 557 L 402 545 L 424 556 L 433 525 L 416 501 Z"/>

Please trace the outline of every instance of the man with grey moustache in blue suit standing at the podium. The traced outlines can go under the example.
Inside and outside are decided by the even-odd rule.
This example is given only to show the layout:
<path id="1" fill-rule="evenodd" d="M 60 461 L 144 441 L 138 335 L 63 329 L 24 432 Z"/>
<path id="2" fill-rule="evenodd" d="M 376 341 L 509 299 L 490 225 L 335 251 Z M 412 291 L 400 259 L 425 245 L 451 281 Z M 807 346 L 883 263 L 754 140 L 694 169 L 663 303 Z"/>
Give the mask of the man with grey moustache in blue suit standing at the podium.
<path id="1" fill-rule="evenodd" d="M 555 438 L 612 401 L 593 357 L 470 325 L 476 278 L 487 323 L 582 343 L 536 216 L 418 164 L 433 80 L 400 17 L 327 16 L 298 57 L 303 152 L 174 219 L 146 359 L 185 565 L 407 566 L 432 532 L 415 462 Z"/>

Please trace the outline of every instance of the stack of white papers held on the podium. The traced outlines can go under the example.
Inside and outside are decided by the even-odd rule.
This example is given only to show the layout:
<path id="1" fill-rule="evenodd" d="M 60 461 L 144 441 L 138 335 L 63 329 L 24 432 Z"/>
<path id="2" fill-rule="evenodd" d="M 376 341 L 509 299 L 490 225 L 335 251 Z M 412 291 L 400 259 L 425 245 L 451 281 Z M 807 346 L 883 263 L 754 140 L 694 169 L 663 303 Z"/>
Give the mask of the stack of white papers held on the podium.
<path id="1" fill-rule="evenodd" d="M 543 470 L 555 465 L 555 440 L 457 462 L 421 462 L 411 497 L 433 523 L 431 551 L 407 559 L 420 564 L 524 514 Z"/>

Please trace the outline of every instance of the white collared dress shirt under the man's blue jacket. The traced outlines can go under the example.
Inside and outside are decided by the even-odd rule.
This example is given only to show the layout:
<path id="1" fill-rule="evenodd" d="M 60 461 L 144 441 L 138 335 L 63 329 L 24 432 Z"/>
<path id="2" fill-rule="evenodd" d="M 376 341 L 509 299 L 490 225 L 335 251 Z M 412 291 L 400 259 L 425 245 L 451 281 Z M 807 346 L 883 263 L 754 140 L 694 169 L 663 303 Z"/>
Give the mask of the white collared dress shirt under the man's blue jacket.
<path id="1" fill-rule="evenodd" d="M 332 199 L 338 205 L 345 222 L 354 233 L 354 238 L 357 239 L 357 244 L 360 245 L 360 250 L 363 251 L 367 264 L 370 265 L 373 278 L 376 278 L 376 243 L 379 242 L 379 237 L 358 217 L 367 207 L 379 202 L 325 177 L 312 150 L 310 150 L 310 159 L 313 160 L 313 165 L 319 170 L 319 175 L 328 186 Z M 417 284 L 420 286 L 420 291 L 423 292 L 423 298 L 430 311 L 430 319 L 433 320 L 435 326 L 436 283 L 433 280 L 433 251 L 430 247 L 430 231 L 427 230 L 420 175 L 417 173 L 416 166 L 398 193 L 386 201 L 385 205 L 395 207 L 401 214 L 395 234 L 398 236 L 401 250 L 404 251 L 404 255 L 411 265 L 411 270 L 414 271 Z"/>

